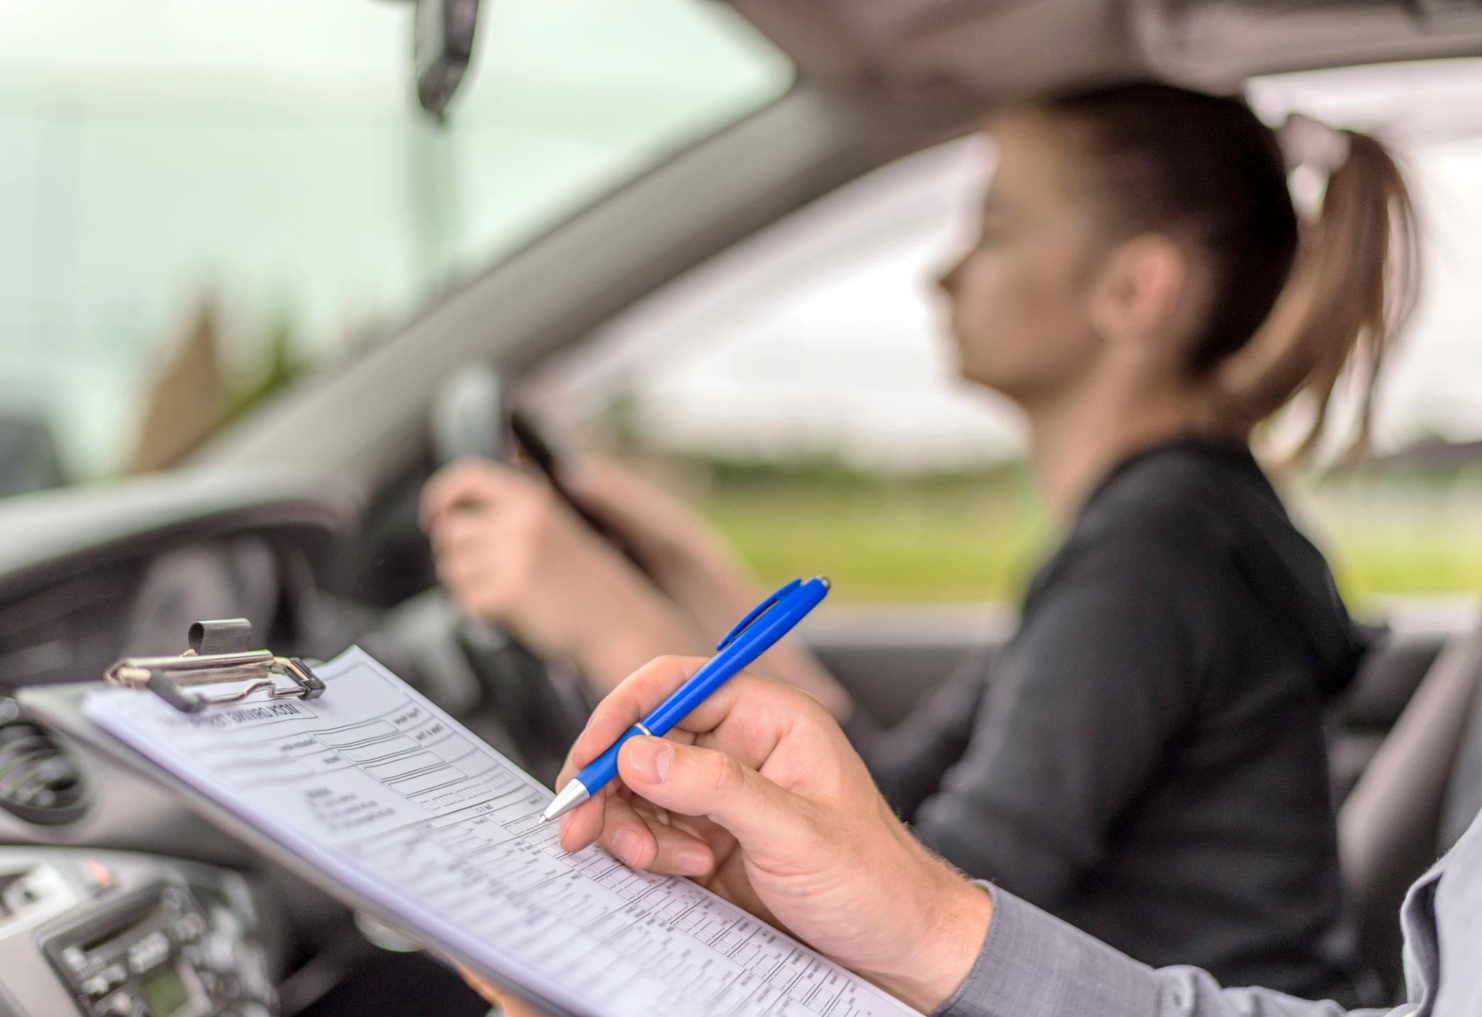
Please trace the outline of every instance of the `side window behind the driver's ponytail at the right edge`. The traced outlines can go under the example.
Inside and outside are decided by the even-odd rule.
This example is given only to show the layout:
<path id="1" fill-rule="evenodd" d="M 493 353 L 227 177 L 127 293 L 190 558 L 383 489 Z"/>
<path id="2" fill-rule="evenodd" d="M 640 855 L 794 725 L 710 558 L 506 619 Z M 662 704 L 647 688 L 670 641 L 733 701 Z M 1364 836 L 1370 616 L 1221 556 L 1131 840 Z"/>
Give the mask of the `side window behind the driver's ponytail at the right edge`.
<path id="1" fill-rule="evenodd" d="M 1420 212 L 1420 305 L 1378 392 L 1374 456 L 1295 478 L 1292 497 L 1356 610 L 1472 611 L 1482 591 L 1482 61 L 1257 78 L 1270 123 L 1298 110 L 1389 141 Z M 1353 392 L 1338 394 L 1349 407 Z M 1460 614 L 1458 617 L 1466 617 Z"/>

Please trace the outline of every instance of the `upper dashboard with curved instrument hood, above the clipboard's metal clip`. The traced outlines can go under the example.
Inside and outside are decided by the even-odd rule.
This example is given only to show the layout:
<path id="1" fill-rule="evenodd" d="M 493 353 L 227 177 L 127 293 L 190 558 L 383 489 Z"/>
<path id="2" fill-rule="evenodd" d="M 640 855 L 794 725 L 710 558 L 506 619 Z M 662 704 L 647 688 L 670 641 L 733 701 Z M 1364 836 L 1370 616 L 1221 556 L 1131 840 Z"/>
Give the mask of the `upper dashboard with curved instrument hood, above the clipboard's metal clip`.
<path id="1" fill-rule="evenodd" d="M 179 653 L 202 617 L 247 614 L 259 635 L 298 641 L 357 526 L 351 493 L 295 477 L 6 499 L 0 688 L 92 678 L 124 651 Z"/>

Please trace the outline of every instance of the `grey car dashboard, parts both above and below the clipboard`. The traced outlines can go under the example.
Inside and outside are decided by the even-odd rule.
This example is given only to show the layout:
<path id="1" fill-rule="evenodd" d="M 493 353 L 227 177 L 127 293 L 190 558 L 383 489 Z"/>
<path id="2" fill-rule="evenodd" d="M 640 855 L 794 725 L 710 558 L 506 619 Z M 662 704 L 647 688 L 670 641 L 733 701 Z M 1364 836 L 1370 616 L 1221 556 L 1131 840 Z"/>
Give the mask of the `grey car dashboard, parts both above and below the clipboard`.
<path id="1" fill-rule="evenodd" d="M 357 508 L 319 484 L 160 478 L 0 505 L 0 1017 L 270 1017 L 344 909 L 24 708 L 190 622 L 323 653 Z M 317 614 L 316 614 L 317 613 Z M 308 616 L 314 616 L 310 620 Z M 338 647 L 330 647 L 338 648 Z"/>

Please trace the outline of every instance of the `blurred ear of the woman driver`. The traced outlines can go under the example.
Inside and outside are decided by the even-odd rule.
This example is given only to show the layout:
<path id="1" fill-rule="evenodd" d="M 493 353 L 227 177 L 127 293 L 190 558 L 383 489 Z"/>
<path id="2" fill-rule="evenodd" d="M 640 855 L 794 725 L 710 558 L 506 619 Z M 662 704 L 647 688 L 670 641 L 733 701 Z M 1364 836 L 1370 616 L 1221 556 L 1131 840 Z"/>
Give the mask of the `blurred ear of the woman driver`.
<path id="1" fill-rule="evenodd" d="M 1112 252 L 1094 284 L 1091 321 L 1107 342 L 1149 348 L 1183 339 L 1193 312 L 1187 252 L 1162 234 L 1141 234 Z"/>

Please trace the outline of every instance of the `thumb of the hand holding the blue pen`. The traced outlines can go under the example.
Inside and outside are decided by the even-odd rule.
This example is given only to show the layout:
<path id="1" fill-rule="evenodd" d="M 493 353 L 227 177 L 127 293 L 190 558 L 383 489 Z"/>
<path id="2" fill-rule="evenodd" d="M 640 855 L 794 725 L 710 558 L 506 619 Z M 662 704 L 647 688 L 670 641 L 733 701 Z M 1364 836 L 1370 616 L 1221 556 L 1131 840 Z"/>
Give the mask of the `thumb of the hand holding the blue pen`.
<path id="1" fill-rule="evenodd" d="M 716 749 L 633 737 L 618 752 L 618 773 L 659 808 L 719 823 L 742 848 L 796 844 L 809 833 L 803 798 Z"/>

